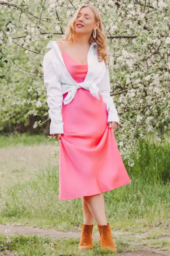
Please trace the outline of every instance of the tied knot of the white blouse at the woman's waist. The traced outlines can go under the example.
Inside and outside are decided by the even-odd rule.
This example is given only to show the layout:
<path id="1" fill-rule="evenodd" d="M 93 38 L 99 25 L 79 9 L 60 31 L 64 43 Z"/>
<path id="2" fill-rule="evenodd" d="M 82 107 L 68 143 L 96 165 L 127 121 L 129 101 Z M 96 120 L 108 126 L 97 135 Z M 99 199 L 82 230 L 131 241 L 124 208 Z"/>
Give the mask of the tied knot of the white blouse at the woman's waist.
<path id="1" fill-rule="evenodd" d="M 63 88 L 64 87 L 65 87 L 65 84 L 63 84 Z M 74 96 L 79 88 L 84 88 L 86 90 L 89 90 L 94 97 L 96 97 L 97 99 L 100 99 L 99 95 L 98 95 L 98 87 L 96 86 L 96 84 L 94 82 L 87 81 L 87 82 L 82 82 L 82 83 L 69 84 L 69 89 L 68 90 L 66 89 L 64 91 L 64 93 L 68 92 L 67 96 L 63 100 L 64 105 L 66 105 L 72 101 L 72 99 L 74 98 Z"/>

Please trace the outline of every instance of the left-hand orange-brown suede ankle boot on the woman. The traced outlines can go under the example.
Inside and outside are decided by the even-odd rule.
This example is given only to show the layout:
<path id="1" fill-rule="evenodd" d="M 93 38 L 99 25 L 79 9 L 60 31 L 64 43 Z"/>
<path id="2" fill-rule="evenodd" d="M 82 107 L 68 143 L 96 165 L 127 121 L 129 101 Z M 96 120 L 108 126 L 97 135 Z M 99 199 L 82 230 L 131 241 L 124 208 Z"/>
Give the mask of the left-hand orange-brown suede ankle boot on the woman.
<path id="1" fill-rule="evenodd" d="M 82 224 L 82 234 L 79 242 L 79 249 L 92 249 L 93 248 L 93 238 L 92 238 L 93 224 L 86 225 Z"/>

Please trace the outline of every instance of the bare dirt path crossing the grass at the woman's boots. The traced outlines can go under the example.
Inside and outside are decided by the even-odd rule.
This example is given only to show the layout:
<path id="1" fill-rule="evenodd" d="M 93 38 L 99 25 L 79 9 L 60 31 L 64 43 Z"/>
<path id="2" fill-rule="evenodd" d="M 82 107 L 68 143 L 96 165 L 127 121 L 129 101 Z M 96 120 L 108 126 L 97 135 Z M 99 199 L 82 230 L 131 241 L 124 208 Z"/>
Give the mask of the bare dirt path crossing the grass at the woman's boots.
<path id="1" fill-rule="evenodd" d="M 57 231 L 55 229 L 42 229 L 37 227 L 26 227 L 26 226 L 12 226 L 12 225 L 0 225 L 0 233 L 6 233 L 8 230 L 8 235 L 33 235 L 37 234 L 38 236 L 49 236 L 55 239 L 62 238 L 80 238 L 81 232 L 73 231 Z M 114 231 L 114 236 L 130 235 L 130 232 L 119 232 Z M 98 241 L 99 231 L 93 233 L 94 241 Z M 140 234 L 140 236 L 135 235 L 135 237 L 146 237 L 146 233 Z M 170 241 L 170 236 L 162 236 L 157 238 L 157 240 L 164 239 Z M 163 251 L 157 248 L 149 247 L 147 245 L 140 245 L 137 242 L 130 242 L 136 247 L 136 251 L 123 251 L 119 253 L 121 256 L 170 256 L 170 252 Z"/>

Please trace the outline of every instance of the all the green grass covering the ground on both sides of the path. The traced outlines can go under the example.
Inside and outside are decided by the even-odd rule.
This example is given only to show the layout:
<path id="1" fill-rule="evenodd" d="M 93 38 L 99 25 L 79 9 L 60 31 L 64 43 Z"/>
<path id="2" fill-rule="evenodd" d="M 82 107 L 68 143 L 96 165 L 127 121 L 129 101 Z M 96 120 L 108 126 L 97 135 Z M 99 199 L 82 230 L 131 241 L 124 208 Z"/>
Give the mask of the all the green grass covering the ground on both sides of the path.
<path id="1" fill-rule="evenodd" d="M 25 134 L 22 138 L 17 136 L 15 135 L 14 138 L 11 137 L 10 139 L 1 137 L 0 141 L 3 143 L 1 153 L 8 147 L 8 154 L 10 154 L 10 146 L 15 146 L 16 158 L 17 152 L 20 152 L 20 148 L 24 145 L 24 148 L 31 149 L 27 151 L 24 163 L 27 158 L 30 161 L 29 163 L 26 162 L 25 166 L 20 159 L 18 159 L 20 164 L 18 161 L 15 163 L 14 160 L 12 164 L 7 161 L 6 165 L 2 163 L 0 167 L 3 184 L 0 188 L 0 223 L 80 231 L 83 222 L 81 198 L 68 201 L 58 200 L 59 166 L 58 162 L 53 162 L 54 154 L 52 154 L 56 148 L 56 141 L 51 142 L 42 134 L 40 136 Z M 37 147 L 37 144 L 40 147 Z M 49 147 L 45 149 L 46 146 Z M 35 147 L 37 148 L 34 151 Z M 48 163 L 51 164 L 45 163 L 43 151 L 45 151 L 45 155 L 49 152 Z M 132 182 L 104 193 L 106 217 L 115 231 L 129 231 L 131 234 L 126 238 L 122 236 L 125 239 L 117 237 L 116 244 L 119 251 L 134 249 L 135 247 L 133 248 L 130 241 L 136 239 L 136 232 L 150 233 L 150 230 L 152 230 L 150 236 L 147 236 L 147 239 L 142 239 L 141 244 L 169 250 L 168 241 L 156 240 L 155 238 L 164 234 L 167 235 L 170 227 L 170 215 L 168 214 L 170 212 L 170 143 L 166 140 L 161 144 L 150 143 L 149 140 L 139 140 L 138 151 L 139 157 L 134 154 L 131 156 L 135 162 L 133 167 L 127 166 L 126 160 L 124 161 Z M 35 153 L 41 156 L 37 162 L 35 161 Z M 13 151 L 12 155 L 14 156 Z M 38 166 L 37 169 L 34 169 L 34 162 Z M 6 173 L 7 169 L 8 172 Z M 32 172 L 32 170 L 34 171 Z M 31 178 L 29 177 L 30 173 Z M 9 181 L 11 175 L 12 182 Z M 95 231 L 97 231 L 96 226 L 94 226 Z M 3 244 L 1 247 L 8 248 L 9 245 L 4 239 L 5 237 L 1 235 L 0 244 Z M 79 239 L 76 238 L 54 241 L 37 236 L 33 238 L 14 236 L 11 239 L 13 242 L 10 243 L 10 250 L 17 250 L 19 253 L 17 255 L 37 256 L 52 255 L 52 253 L 67 256 L 111 255 L 110 252 L 103 252 L 99 248 L 98 242 L 94 242 L 94 250 L 80 254 L 77 249 Z M 29 246 L 30 241 L 32 247 Z M 53 244 L 52 247 L 51 243 Z M 18 248 L 15 248 L 17 246 Z M 28 250 L 27 247 L 29 247 Z"/>

